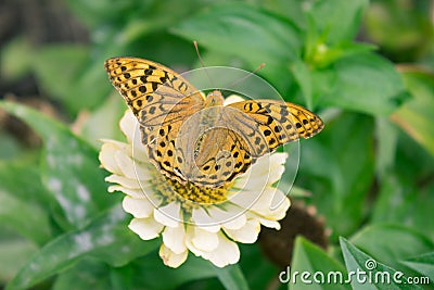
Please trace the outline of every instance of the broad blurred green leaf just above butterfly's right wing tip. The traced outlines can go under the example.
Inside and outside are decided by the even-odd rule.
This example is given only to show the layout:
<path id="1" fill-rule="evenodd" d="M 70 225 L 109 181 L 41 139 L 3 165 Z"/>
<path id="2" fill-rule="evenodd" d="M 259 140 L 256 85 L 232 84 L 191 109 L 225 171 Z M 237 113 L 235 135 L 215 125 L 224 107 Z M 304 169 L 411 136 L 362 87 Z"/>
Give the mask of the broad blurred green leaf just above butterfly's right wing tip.
<path id="1" fill-rule="evenodd" d="M 320 99 L 324 106 L 386 116 L 409 97 L 393 64 L 373 53 L 341 59 L 323 74 L 332 74 L 329 79 L 333 79 L 317 92 L 326 93 Z"/>

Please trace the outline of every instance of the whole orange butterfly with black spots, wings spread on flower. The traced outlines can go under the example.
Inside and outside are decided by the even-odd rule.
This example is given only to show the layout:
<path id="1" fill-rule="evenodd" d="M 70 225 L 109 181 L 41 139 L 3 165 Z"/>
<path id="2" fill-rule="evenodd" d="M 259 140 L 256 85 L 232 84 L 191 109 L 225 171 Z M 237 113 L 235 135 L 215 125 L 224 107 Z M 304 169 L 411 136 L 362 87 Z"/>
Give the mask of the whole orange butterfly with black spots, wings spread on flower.
<path id="1" fill-rule="evenodd" d="M 217 188 L 279 146 L 321 131 L 323 123 L 290 102 L 246 100 L 224 105 L 170 68 L 138 58 L 112 58 L 105 71 L 136 115 L 155 167 L 181 184 Z"/>

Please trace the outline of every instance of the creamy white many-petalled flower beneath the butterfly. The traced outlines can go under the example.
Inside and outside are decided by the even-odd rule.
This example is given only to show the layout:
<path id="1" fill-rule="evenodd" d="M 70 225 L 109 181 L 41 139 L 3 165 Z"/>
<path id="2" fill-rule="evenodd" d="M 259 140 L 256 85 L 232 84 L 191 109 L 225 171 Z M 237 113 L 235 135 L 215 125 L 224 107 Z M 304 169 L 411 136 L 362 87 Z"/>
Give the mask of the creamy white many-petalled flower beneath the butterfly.
<path id="1" fill-rule="evenodd" d="M 129 228 L 141 239 L 162 236 L 159 256 L 164 264 L 180 266 L 189 251 L 218 267 L 235 264 L 240 260 L 237 242 L 255 242 L 261 225 L 280 228 L 278 220 L 285 216 L 290 200 L 273 185 L 283 174 L 286 153 L 258 159 L 247 173 L 222 189 L 182 186 L 149 162 L 136 131 L 138 121 L 130 111 L 119 125 L 127 142 L 103 140 L 100 152 L 102 166 L 112 173 L 105 179 L 113 184 L 108 191 L 126 194 L 123 207 L 133 216 Z M 205 196 L 215 199 L 192 205 L 180 199 L 186 194 L 194 201 Z"/>

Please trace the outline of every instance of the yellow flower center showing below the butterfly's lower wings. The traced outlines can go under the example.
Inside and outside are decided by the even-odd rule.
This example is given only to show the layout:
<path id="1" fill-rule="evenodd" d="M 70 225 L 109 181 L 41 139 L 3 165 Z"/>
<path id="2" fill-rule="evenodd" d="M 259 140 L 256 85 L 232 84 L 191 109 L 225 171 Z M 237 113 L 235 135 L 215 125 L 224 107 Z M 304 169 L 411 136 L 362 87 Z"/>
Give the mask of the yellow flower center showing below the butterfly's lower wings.
<path id="1" fill-rule="evenodd" d="M 167 202 L 178 201 L 183 207 L 197 207 L 203 205 L 217 204 L 226 201 L 227 192 L 232 184 L 220 188 L 199 187 L 191 182 L 182 185 L 169 179 L 161 173 L 155 173 L 152 185 Z"/>

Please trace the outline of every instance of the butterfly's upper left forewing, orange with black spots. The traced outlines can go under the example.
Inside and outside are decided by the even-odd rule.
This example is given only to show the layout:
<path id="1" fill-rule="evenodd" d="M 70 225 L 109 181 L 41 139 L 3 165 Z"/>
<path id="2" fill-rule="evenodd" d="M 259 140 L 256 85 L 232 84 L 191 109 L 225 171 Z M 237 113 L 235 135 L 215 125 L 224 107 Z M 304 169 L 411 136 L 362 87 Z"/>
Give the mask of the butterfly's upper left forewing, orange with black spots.
<path id="1" fill-rule="evenodd" d="M 113 58 L 105 70 L 142 125 L 159 125 L 175 104 L 193 110 L 204 102 L 186 79 L 161 64 L 136 58 Z M 192 97 L 192 98 L 186 98 Z M 194 112 L 193 112 L 194 113 Z M 156 116 L 158 116 L 156 118 Z"/>

